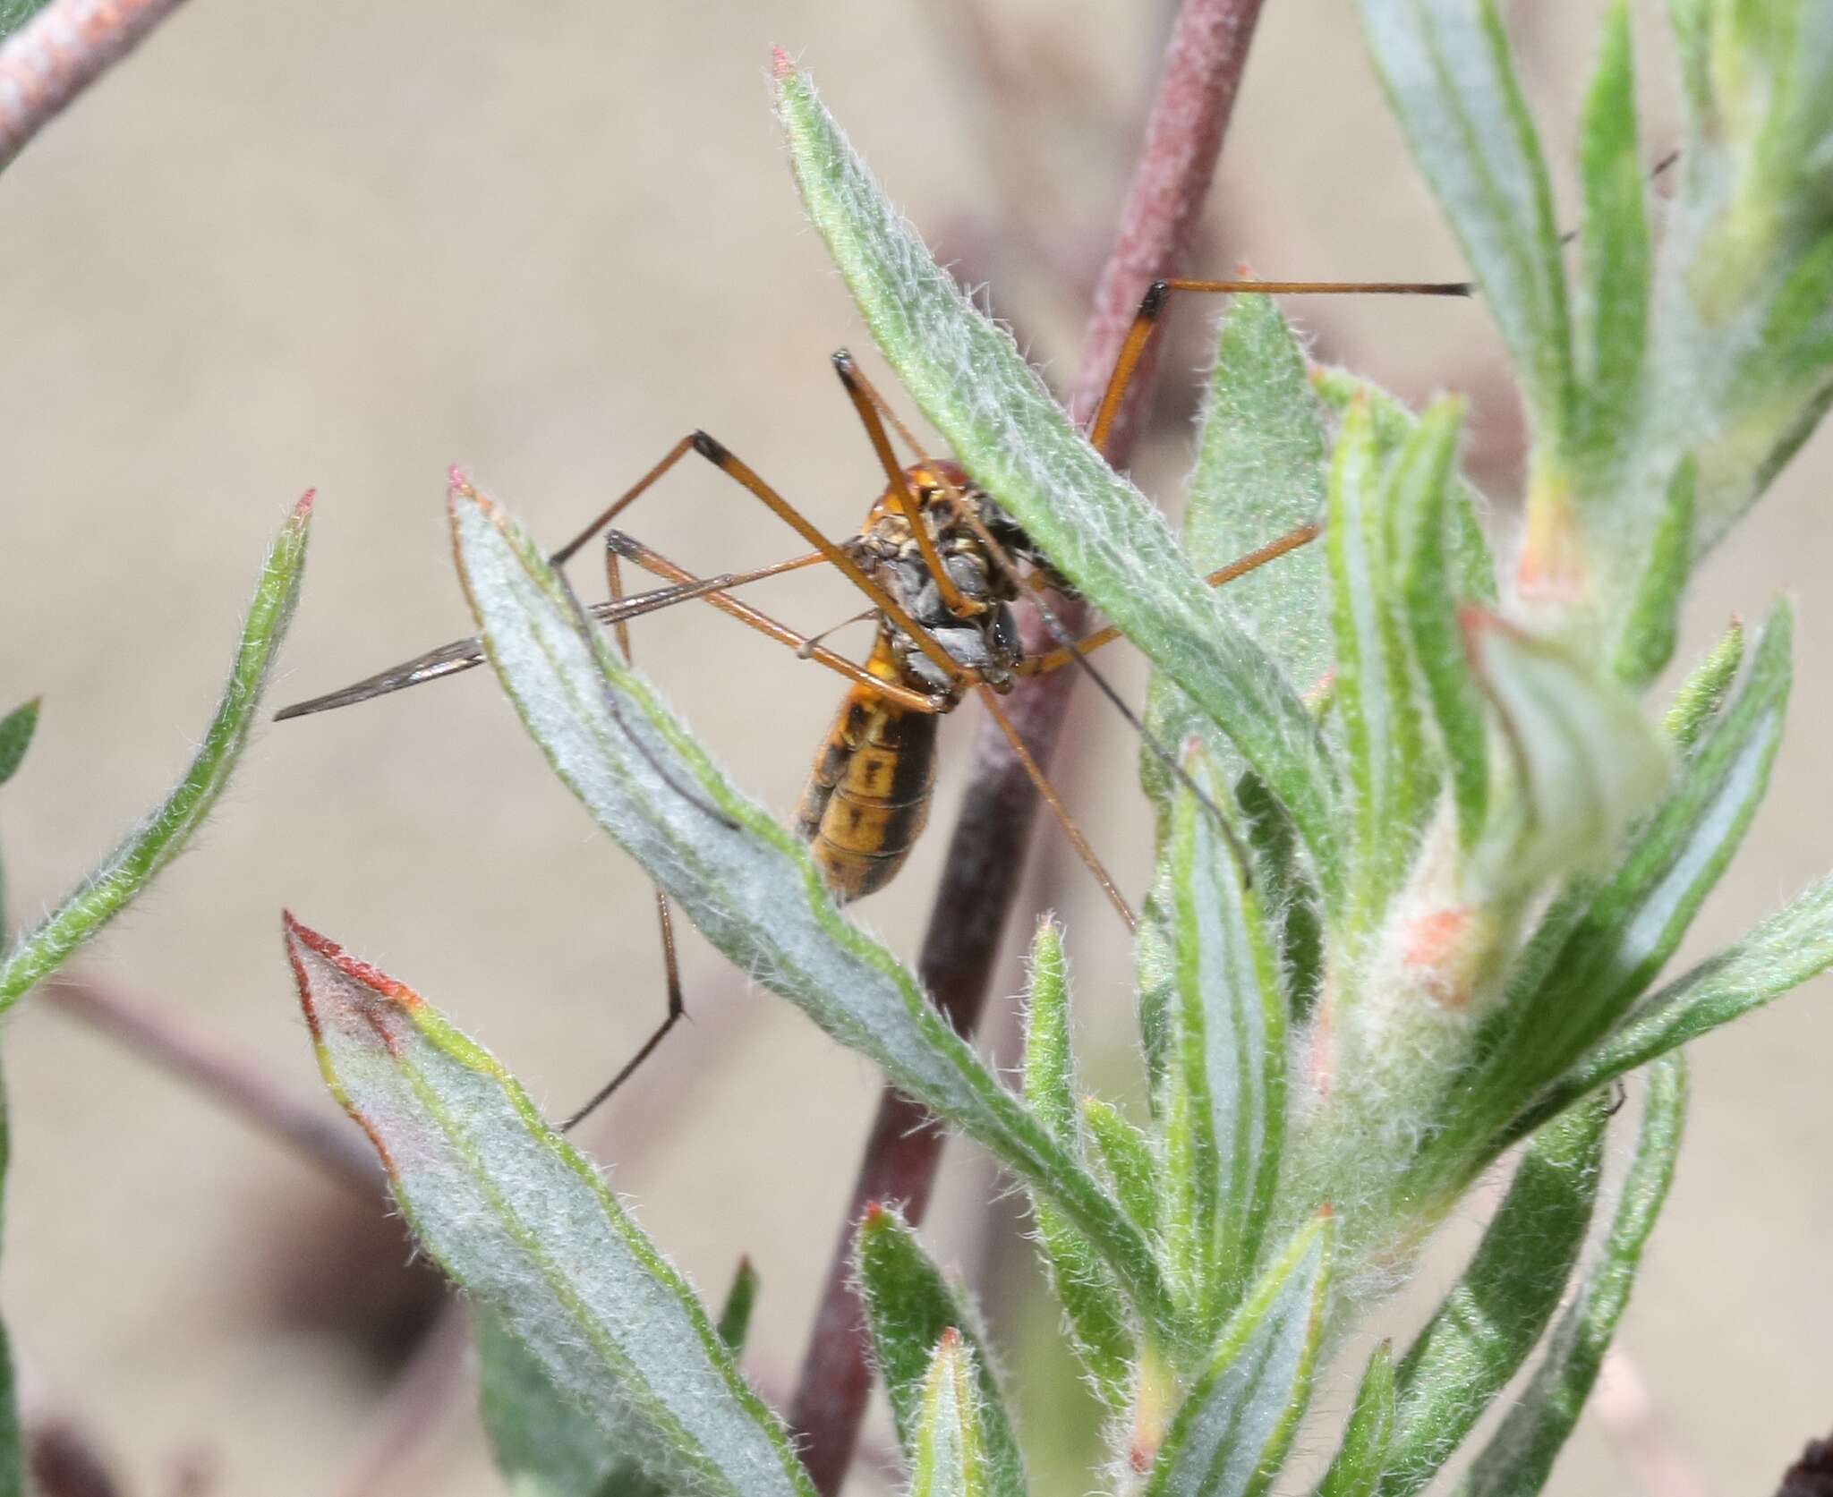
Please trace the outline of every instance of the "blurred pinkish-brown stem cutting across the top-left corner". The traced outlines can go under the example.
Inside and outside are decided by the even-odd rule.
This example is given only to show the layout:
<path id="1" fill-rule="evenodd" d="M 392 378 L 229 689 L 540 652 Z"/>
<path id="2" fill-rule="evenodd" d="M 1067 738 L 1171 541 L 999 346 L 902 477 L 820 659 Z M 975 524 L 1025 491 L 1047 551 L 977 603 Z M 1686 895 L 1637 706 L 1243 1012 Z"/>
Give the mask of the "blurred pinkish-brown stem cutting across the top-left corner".
<path id="1" fill-rule="evenodd" d="M 0 167 L 178 9 L 178 0 L 53 0 L 0 46 Z"/>

